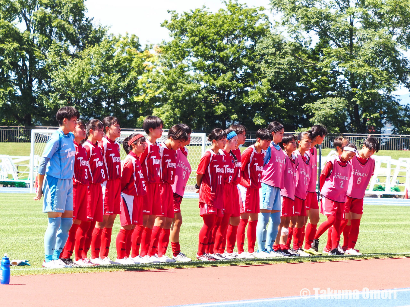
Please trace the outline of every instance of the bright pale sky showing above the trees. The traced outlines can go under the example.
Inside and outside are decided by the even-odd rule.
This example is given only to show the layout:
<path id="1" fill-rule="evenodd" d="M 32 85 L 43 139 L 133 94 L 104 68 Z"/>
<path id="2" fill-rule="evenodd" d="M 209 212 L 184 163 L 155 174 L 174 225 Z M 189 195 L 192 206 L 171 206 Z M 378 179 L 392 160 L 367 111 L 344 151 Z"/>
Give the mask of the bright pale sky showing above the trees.
<path id="1" fill-rule="evenodd" d="M 243 2 L 249 6 L 265 7 L 264 13 L 271 22 L 278 19 L 278 16 L 273 16 L 269 11 L 269 0 Z M 170 18 L 167 10 L 182 13 L 203 5 L 211 11 L 224 7 L 221 0 L 86 0 L 85 3 L 87 15 L 93 17 L 96 23 L 110 26 L 110 32 L 114 34 L 136 34 L 142 45 L 169 40 L 168 30 L 161 27 L 161 23 Z M 399 95 L 402 104 L 410 103 L 407 88 L 398 88 L 394 94 Z"/>

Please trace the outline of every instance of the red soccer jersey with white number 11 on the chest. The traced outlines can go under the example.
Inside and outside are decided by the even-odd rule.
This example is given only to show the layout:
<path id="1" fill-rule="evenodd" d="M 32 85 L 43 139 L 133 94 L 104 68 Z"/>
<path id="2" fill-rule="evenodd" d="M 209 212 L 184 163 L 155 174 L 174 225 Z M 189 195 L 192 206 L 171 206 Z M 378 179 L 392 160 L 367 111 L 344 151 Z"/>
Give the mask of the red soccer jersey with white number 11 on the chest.
<path id="1" fill-rule="evenodd" d="M 98 142 L 98 146 L 103 151 L 105 174 L 108 174 L 105 180 L 121 178 L 120 144 L 105 136 L 103 140 Z"/>

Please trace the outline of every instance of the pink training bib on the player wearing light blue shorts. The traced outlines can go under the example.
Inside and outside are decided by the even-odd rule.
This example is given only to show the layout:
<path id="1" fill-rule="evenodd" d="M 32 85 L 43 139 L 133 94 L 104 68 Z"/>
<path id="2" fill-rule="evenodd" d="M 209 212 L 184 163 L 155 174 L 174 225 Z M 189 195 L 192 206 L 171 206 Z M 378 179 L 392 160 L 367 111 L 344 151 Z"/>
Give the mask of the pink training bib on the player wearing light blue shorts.
<path id="1" fill-rule="evenodd" d="M 273 142 L 269 145 L 271 158 L 263 166 L 262 182 L 271 187 L 283 189 L 283 173 L 285 170 L 285 153 L 282 149 L 276 149 Z"/>

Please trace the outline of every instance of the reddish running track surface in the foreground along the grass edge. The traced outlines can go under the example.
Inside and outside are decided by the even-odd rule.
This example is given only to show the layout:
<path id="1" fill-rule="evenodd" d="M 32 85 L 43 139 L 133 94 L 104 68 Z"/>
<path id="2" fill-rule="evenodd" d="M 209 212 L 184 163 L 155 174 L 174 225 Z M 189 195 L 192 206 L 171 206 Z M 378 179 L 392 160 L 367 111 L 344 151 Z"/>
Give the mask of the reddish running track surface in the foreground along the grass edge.
<path id="1" fill-rule="evenodd" d="M 11 276 L 13 284 L 0 286 L 0 302 L 7 307 L 171 306 L 298 296 L 314 287 L 408 288 L 408 276 L 410 258 L 26 275 Z"/>

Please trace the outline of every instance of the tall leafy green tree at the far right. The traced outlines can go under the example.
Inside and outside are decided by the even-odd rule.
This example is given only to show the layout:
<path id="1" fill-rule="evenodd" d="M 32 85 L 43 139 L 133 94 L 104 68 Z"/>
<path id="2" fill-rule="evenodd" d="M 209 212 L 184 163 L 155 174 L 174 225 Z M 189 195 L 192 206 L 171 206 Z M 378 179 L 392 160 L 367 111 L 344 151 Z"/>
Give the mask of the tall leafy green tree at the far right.
<path id="1" fill-rule="evenodd" d="M 320 98 L 336 100 L 307 106 L 311 115 L 322 104 L 321 118 L 335 116 L 333 108 L 344 99 L 339 115 L 349 132 L 379 132 L 385 121 L 399 125 L 405 110 L 391 93 L 399 84 L 409 85 L 410 66 L 402 51 L 410 46 L 407 1 L 271 0 L 271 5 L 283 15 L 289 35 L 317 55 L 315 69 L 337 78 Z M 313 122 L 318 118 L 314 115 Z"/>

